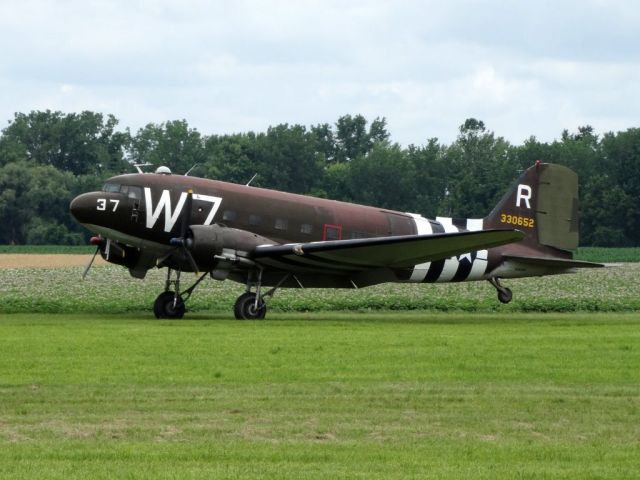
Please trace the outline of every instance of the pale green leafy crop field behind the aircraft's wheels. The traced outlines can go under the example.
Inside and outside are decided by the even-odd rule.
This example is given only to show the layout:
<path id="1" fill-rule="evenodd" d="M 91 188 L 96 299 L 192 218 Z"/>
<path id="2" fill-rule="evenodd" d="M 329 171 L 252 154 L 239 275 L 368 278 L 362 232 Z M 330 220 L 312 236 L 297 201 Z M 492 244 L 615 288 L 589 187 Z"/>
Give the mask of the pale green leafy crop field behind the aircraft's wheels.
<path id="1" fill-rule="evenodd" d="M 1 261 L 1 255 L 0 255 Z M 83 267 L 0 269 L 0 313 L 95 314 L 140 312 L 164 288 L 166 270 L 150 270 L 144 280 L 133 279 L 118 266 L 96 266 L 86 280 Z M 183 275 L 184 288 L 195 280 Z M 640 263 L 584 269 L 576 274 L 505 280 L 514 300 L 500 304 L 488 282 L 461 284 L 385 284 L 354 290 L 279 290 L 272 312 L 305 311 L 468 311 L 570 312 L 639 311 Z M 190 313 L 228 313 L 243 286 L 207 279 L 187 303 Z"/>

